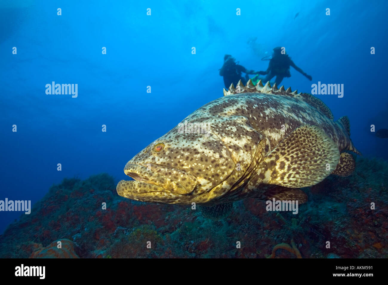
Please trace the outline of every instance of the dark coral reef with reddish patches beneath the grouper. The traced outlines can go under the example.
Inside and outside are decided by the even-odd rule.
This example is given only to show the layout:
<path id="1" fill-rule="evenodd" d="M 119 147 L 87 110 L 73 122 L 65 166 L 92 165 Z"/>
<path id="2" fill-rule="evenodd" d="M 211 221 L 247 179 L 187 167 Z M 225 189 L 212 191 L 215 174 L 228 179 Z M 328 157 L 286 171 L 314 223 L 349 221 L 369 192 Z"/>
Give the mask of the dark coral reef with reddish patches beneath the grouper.
<path id="1" fill-rule="evenodd" d="M 351 176 L 303 188 L 309 200 L 296 215 L 249 198 L 215 221 L 200 207 L 122 198 L 108 174 L 64 179 L 9 225 L 0 257 L 387 258 L 387 185 L 387 162 L 358 158 Z"/>

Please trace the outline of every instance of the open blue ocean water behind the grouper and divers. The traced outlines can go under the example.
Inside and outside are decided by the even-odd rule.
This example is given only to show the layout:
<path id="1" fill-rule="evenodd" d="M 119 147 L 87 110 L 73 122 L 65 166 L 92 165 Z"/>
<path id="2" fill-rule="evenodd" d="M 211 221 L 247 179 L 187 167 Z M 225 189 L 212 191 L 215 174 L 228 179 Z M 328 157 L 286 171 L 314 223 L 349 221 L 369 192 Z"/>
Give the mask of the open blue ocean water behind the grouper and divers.
<path id="1" fill-rule="evenodd" d="M 312 76 L 291 68 L 282 85 L 344 84 L 342 98 L 317 97 L 335 120 L 349 117 L 364 156 L 388 159 L 370 131 L 388 128 L 387 11 L 386 1 L 2 0 L 0 200 L 35 203 L 64 177 L 127 179 L 130 158 L 223 95 L 224 54 L 266 70 L 277 46 Z M 46 94 L 52 82 L 77 84 L 78 96 Z M 0 212 L 0 232 L 20 214 Z"/>

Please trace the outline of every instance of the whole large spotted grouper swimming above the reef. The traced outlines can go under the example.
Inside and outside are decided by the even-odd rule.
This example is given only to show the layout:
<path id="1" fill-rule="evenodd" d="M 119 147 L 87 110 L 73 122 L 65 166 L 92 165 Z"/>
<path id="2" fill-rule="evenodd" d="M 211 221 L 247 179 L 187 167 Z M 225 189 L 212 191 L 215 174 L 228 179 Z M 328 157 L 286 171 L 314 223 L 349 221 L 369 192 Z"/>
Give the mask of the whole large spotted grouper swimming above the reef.
<path id="1" fill-rule="evenodd" d="M 182 133 L 187 122 L 207 130 Z M 346 117 L 334 122 L 329 108 L 310 94 L 249 80 L 224 89 L 224 97 L 135 155 L 124 169 L 135 181 L 120 181 L 117 192 L 171 204 L 211 206 L 246 197 L 305 202 L 298 188 L 352 172 L 354 160 L 345 150 L 360 154 Z"/>

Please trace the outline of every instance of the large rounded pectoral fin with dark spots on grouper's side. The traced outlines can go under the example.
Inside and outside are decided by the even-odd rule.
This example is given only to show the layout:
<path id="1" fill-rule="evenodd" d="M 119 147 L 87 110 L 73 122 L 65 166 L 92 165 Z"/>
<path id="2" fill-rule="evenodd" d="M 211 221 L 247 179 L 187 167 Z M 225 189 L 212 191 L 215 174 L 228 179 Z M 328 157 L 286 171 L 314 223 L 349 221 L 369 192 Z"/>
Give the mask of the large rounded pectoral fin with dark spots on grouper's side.
<path id="1" fill-rule="evenodd" d="M 258 176 L 266 184 L 308 187 L 329 176 L 339 160 L 336 143 L 319 127 L 304 125 L 265 156 Z"/>

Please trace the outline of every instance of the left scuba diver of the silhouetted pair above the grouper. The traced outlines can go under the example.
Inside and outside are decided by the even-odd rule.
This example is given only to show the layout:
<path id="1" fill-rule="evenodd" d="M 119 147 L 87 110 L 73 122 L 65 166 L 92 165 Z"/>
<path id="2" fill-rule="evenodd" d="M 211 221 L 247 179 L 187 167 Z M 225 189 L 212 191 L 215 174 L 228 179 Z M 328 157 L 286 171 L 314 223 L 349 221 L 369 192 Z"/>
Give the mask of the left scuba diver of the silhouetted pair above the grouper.
<path id="1" fill-rule="evenodd" d="M 239 80 L 245 85 L 249 80 L 248 74 L 257 74 L 257 72 L 247 70 L 244 66 L 239 65 L 238 61 L 236 63 L 236 59 L 230 54 L 225 54 L 223 57 L 223 66 L 219 71 L 220 75 L 223 76 L 223 83 L 226 88 L 229 88 L 231 83 L 236 87 Z M 245 78 L 241 76 L 241 72 L 246 73 Z"/>

